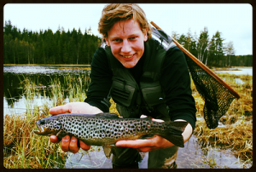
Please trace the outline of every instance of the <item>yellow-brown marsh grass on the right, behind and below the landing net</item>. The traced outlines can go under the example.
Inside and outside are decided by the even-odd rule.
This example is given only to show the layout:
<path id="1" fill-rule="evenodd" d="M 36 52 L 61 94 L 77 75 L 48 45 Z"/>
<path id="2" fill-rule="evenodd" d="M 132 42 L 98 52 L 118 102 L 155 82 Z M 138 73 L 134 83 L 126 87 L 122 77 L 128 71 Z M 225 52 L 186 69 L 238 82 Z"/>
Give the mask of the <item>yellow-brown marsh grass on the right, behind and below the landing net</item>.
<path id="1" fill-rule="evenodd" d="M 198 139 L 201 148 L 206 149 L 218 146 L 221 149 L 230 149 L 237 158 L 253 163 L 253 77 L 248 75 L 230 75 L 219 73 L 219 77 L 225 78 L 232 89 L 241 95 L 239 100 L 233 100 L 230 109 L 220 118 L 223 126 L 216 129 L 208 129 L 203 119 L 204 101 L 192 83 L 193 96 L 195 97 L 199 118 L 196 122 L 194 135 Z M 236 83 L 235 78 L 240 78 L 244 83 Z"/>

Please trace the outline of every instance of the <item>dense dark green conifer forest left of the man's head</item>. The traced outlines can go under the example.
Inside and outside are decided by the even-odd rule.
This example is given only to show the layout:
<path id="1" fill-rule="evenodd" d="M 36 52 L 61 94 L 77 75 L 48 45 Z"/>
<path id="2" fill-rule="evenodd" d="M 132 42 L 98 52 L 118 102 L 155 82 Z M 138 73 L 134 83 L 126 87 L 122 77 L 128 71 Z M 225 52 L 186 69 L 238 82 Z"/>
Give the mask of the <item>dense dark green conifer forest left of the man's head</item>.
<path id="1" fill-rule="evenodd" d="M 90 64 L 101 42 L 90 28 L 84 34 L 80 29 L 65 32 L 63 27 L 55 33 L 51 29 L 32 32 L 25 28 L 20 32 L 9 20 L 3 27 L 3 64 Z"/>

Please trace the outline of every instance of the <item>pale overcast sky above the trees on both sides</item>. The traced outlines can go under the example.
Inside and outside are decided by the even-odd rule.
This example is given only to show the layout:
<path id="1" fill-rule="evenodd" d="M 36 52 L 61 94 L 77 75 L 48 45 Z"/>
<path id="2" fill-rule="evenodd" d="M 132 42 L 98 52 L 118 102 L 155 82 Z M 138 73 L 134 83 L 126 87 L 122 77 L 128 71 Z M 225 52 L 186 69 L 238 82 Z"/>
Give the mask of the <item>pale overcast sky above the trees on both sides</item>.
<path id="1" fill-rule="evenodd" d="M 97 31 L 105 3 L 15 3 L 3 8 L 3 22 L 11 20 L 12 25 L 22 32 L 39 32 L 51 29 L 56 32 L 63 27 L 67 32 L 75 28 L 89 27 L 94 35 Z M 199 4 L 199 3 L 139 3 L 148 20 L 154 21 L 170 36 L 172 32 L 187 34 L 190 31 L 199 37 L 207 26 L 210 39 L 217 31 L 222 33 L 224 43 L 233 42 L 236 55 L 253 54 L 253 8 L 250 4 Z"/>

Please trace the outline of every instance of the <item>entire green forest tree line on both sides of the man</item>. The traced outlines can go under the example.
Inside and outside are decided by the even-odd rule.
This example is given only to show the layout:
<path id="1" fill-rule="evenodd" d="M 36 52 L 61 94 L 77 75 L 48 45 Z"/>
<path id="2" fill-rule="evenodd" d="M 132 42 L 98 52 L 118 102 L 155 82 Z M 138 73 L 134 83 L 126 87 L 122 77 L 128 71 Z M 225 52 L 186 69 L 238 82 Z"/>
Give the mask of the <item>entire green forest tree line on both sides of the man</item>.
<path id="1" fill-rule="evenodd" d="M 200 36 L 179 35 L 172 32 L 172 37 L 188 49 L 207 66 L 253 66 L 253 55 L 235 55 L 233 43 L 224 44 L 221 32 L 209 37 L 207 27 Z M 102 40 L 85 29 L 84 34 L 73 28 L 65 32 L 60 28 L 53 33 L 51 29 L 39 32 L 22 32 L 11 21 L 3 26 L 3 63 L 38 64 L 38 65 L 84 65 L 90 64 L 93 54 Z"/>

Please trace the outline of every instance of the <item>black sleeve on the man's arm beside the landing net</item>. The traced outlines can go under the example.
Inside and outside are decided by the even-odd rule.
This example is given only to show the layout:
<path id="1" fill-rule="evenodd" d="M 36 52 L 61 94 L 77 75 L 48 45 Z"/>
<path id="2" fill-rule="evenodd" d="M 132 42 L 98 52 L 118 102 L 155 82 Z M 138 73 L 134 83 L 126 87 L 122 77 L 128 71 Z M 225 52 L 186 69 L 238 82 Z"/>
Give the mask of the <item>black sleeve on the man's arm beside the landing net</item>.
<path id="1" fill-rule="evenodd" d="M 186 120 L 195 129 L 195 99 L 192 96 L 189 69 L 181 49 L 175 47 L 166 52 L 160 84 L 166 94 L 171 120 Z"/>

